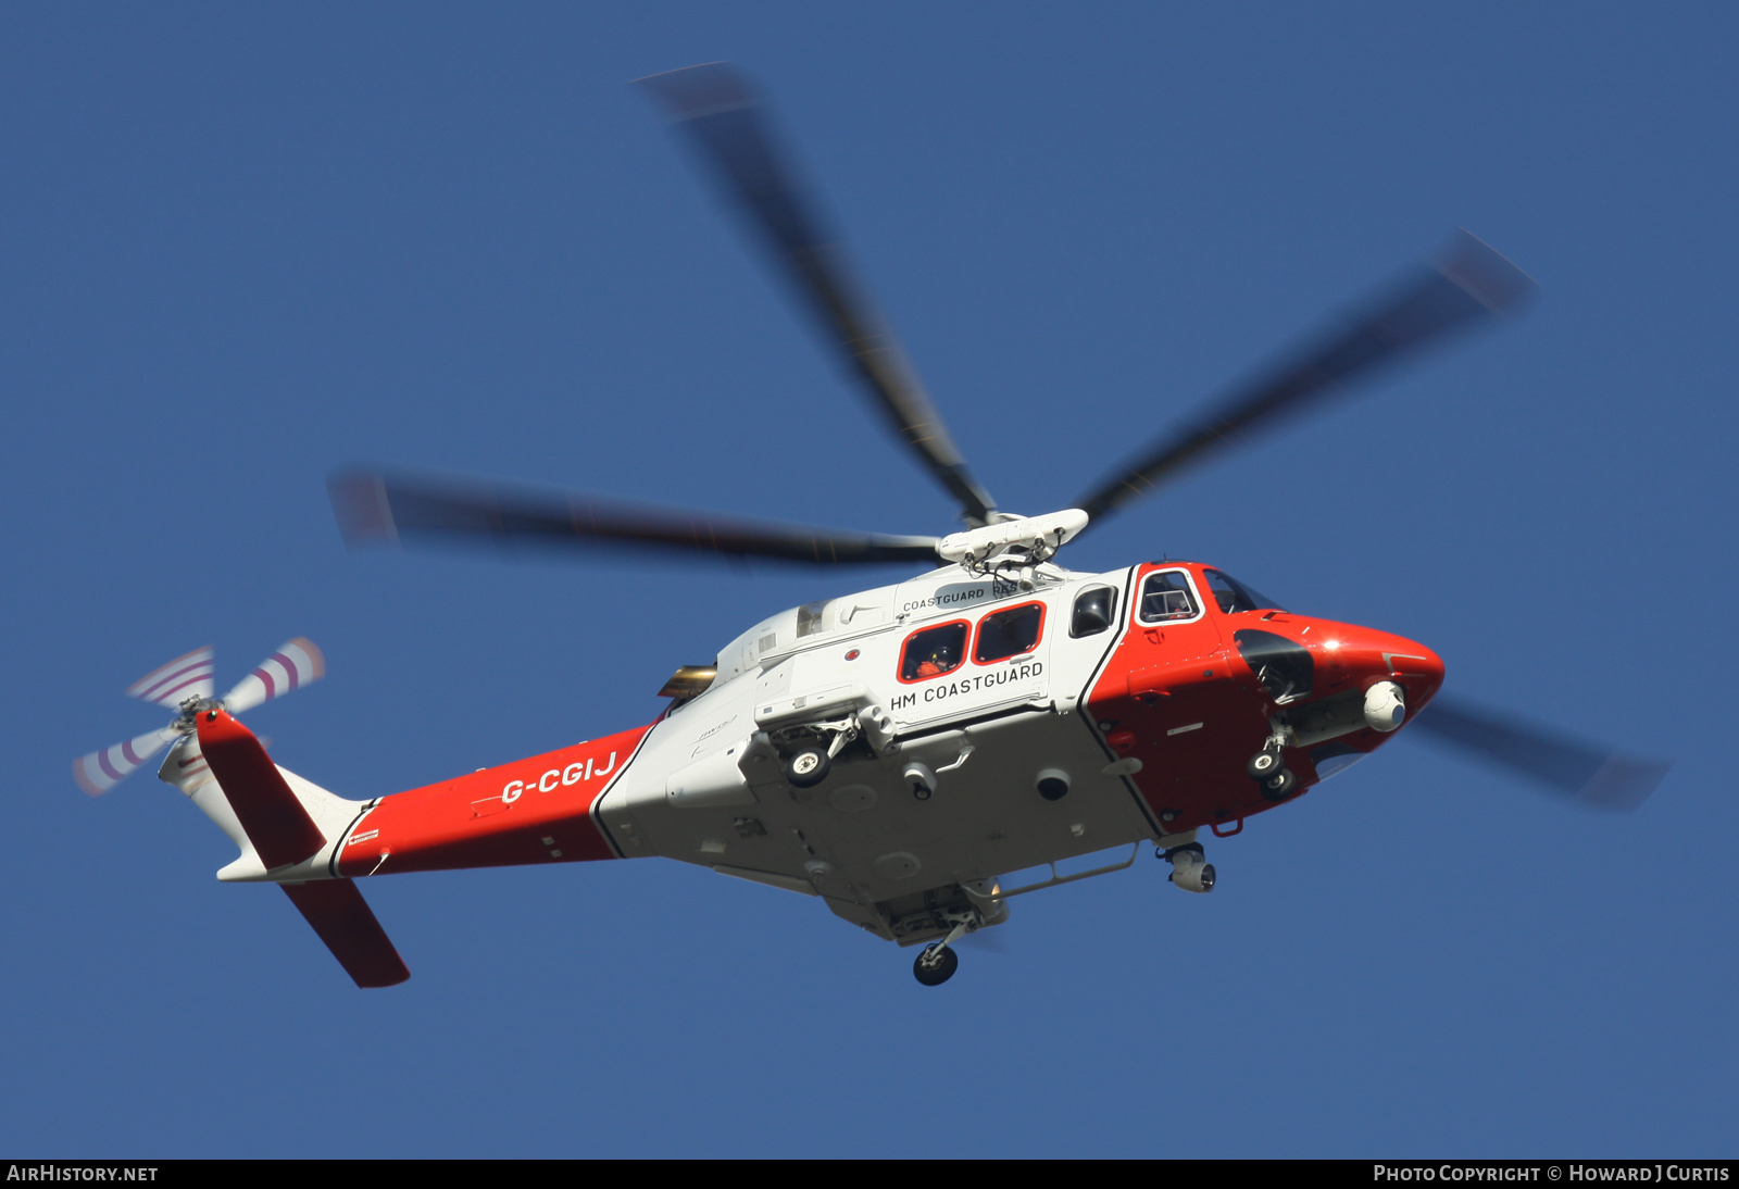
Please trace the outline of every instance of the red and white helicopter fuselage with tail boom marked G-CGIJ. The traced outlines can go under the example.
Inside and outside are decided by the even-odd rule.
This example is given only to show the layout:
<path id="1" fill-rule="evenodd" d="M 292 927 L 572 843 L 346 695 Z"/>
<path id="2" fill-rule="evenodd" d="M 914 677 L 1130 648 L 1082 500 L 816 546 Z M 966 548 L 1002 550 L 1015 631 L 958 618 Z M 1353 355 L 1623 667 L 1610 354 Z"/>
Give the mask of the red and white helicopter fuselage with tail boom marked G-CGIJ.
<path id="1" fill-rule="evenodd" d="M 774 615 L 715 668 L 649 727 L 383 798 L 332 873 L 663 855 L 909 944 L 960 906 L 1000 920 L 1009 873 L 1235 833 L 1389 737 L 1374 687 L 1412 713 L 1443 676 L 1423 645 L 1191 561 L 944 567 Z M 826 779 L 793 784 L 793 741 L 840 725 Z M 1285 796 L 1247 772 L 1264 746 Z"/>

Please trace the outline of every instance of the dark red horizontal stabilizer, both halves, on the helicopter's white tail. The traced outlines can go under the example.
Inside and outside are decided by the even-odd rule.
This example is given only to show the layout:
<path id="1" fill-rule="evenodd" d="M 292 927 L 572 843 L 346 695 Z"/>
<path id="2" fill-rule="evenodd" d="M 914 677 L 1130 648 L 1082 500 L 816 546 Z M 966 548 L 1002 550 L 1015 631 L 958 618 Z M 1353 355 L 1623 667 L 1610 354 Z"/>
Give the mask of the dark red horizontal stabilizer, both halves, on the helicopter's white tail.
<path id="1" fill-rule="evenodd" d="M 198 716 L 198 744 L 247 841 L 268 871 L 320 854 L 327 836 L 290 791 L 247 727 L 221 709 Z M 358 987 L 390 987 L 410 977 L 369 902 L 350 880 L 280 885 Z"/>

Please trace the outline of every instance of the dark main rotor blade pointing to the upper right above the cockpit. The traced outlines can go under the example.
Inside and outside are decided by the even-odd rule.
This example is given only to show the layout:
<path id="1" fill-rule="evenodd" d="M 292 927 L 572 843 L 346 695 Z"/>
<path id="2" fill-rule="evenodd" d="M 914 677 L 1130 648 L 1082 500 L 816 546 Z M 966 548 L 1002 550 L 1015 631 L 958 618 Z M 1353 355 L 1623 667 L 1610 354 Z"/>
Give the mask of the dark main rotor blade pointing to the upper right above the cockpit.
<path id="1" fill-rule="evenodd" d="M 1271 429 L 1447 332 L 1509 309 L 1532 290 L 1534 282 L 1522 269 L 1457 231 L 1443 257 L 1423 276 L 1396 285 L 1348 325 L 1318 335 L 1254 384 L 1210 405 L 1200 421 L 1160 438 L 1075 506 L 1097 521 L 1214 450 Z"/>

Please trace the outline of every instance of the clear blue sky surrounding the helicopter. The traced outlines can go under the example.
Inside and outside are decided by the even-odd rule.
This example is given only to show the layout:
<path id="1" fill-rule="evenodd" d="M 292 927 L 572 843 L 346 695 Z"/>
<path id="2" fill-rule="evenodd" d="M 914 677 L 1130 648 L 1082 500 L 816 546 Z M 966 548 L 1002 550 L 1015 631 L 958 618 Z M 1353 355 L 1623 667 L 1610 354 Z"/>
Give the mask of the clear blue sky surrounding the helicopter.
<path id="1" fill-rule="evenodd" d="M 1732 1154 L 1739 586 L 1722 5 L 10 9 L 0 1147 L 40 1154 Z M 1449 688 L 1676 758 L 1589 817 L 1403 737 L 1209 854 L 1024 897 L 939 991 L 673 862 L 376 880 L 358 993 L 167 786 L 68 763 L 216 643 L 376 796 L 650 720 L 894 581 L 346 555 L 377 461 L 883 532 L 941 492 L 624 83 L 732 59 L 1002 502 L 1466 226 L 1520 318 L 1212 466 L 1078 568 L 1196 556 Z"/>

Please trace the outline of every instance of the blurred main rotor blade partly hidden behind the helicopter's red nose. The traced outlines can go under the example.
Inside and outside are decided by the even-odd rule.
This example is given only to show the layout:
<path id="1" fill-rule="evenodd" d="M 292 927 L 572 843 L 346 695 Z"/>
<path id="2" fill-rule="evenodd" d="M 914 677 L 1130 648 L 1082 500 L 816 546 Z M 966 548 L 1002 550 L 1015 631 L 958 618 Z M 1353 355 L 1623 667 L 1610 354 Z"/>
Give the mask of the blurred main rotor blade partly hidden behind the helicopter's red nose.
<path id="1" fill-rule="evenodd" d="M 1649 800 L 1673 765 L 1607 751 L 1596 742 L 1567 739 L 1541 727 L 1442 695 L 1414 720 L 1423 730 L 1529 777 L 1577 805 L 1633 810 Z"/>

